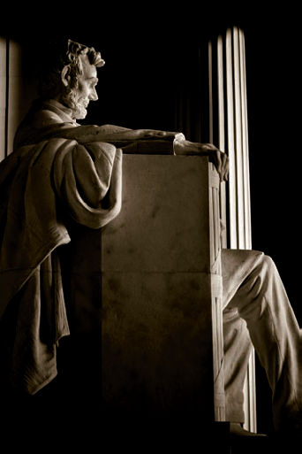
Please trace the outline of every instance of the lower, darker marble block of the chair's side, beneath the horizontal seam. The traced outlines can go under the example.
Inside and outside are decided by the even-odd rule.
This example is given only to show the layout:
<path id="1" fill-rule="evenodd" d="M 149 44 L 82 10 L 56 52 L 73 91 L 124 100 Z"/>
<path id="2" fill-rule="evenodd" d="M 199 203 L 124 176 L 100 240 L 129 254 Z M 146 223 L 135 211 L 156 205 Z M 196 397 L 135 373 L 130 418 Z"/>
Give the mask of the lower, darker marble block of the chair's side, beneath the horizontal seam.
<path id="1" fill-rule="evenodd" d="M 201 273 L 104 273 L 105 411 L 214 420 L 209 289 Z"/>

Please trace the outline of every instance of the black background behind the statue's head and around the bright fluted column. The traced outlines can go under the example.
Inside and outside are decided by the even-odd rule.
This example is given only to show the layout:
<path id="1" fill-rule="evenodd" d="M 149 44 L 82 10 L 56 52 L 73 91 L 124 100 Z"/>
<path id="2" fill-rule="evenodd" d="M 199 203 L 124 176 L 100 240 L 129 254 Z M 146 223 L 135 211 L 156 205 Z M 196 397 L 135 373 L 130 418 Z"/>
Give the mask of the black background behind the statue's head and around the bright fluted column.
<path id="1" fill-rule="evenodd" d="M 253 249 L 275 260 L 301 326 L 299 13 L 261 12 L 247 6 L 238 13 L 218 6 L 207 11 L 203 7 L 189 11 L 184 6 L 165 13 L 154 4 L 141 10 L 125 7 L 124 11 L 83 5 L 76 20 L 70 12 L 49 12 L 50 18 L 43 14 L 40 19 L 30 19 L 27 13 L 21 26 L 12 20 L 2 29 L 3 35 L 23 43 L 26 67 L 33 77 L 43 41 L 67 36 L 101 50 L 106 65 L 99 70 L 99 101 L 90 104 L 87 123 L 172 130 L 179 74 L 191 67 L 195 50 L 225 27 L 241 27 L 246 50 Z M 258 426 L 268 431 L 270 391 L 259 365 L 257 371 Z"/>

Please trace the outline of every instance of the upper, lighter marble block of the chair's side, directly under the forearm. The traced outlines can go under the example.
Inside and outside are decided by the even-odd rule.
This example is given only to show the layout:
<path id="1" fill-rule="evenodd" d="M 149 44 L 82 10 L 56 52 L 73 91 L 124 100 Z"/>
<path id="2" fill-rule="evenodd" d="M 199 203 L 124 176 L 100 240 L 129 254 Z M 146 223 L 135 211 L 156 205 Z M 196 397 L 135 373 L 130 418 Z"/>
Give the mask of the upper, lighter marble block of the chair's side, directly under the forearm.
<path id="1" fill-rule="evenodd" d="M 209 273 L 207 182 L 203 158 L 125 155 L 122 211 L 102 229 L 102 271 Z"/>

